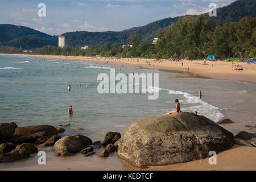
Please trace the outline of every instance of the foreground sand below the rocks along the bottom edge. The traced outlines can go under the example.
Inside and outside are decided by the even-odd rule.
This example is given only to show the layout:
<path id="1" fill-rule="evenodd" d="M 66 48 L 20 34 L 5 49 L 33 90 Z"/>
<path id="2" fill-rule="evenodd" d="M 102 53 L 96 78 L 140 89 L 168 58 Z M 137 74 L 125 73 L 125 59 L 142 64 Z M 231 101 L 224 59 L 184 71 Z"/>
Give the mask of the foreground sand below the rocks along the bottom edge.
<path id="1" fill-rule="evenodd" d="M 24 159 L 20 162 L 22 166 L 15 164 L 5 164 L 5 168 L 0 170 L 26 170 L 26 171 L 212 171 L 212 170 L 256 170 L 256 148 L 237 146 L 229 150 L 217 154 L 217 164 L 210 165 L 208 160 L 193 160 L 187 163 L 171 164 L 167 166 L 151 166 L 145 169 L 135 168 L 125 160 L 119 159 L 115 154 L 108 158 L 102 159 L 98 156 L 84 157 L 81 154 L 69 157 L 54 157 L 53 152 L 50 158 L 47 158 L 46 165 L 39 165 L 37 163 L 38 156 L 32 155 L 29 159 Z M 10 166 L 10 167 L 9 167 Z"/>

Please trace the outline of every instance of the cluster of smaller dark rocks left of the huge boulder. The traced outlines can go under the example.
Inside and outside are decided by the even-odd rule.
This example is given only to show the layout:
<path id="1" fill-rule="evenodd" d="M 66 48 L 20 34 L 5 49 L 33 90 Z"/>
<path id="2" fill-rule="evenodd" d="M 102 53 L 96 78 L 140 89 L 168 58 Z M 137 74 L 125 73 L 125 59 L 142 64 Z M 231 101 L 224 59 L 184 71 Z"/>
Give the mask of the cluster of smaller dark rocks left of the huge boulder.
<path id="1" fill-rule="evenodd" d="M 96 154 L 94 148 L 104 150 L 97 152 L 98 156 L 106 157 L 117 150 L 117 140 L 120 133 L 108 132 L 101 143 L 84 135 L 66 135 L 61 138 L 58 133 L 64 133 L 62 127 L 55 128 L 50 125 L 18 127 L 16 123 L 1 123 L 0 126 L 0 163 L 29 158 L 38 152 L 37 147 L 53 146 L 55 156 L 69 156 L 81 152 L 85 156 Z M 115 143 L 115 145 L 114 145 Z"/>

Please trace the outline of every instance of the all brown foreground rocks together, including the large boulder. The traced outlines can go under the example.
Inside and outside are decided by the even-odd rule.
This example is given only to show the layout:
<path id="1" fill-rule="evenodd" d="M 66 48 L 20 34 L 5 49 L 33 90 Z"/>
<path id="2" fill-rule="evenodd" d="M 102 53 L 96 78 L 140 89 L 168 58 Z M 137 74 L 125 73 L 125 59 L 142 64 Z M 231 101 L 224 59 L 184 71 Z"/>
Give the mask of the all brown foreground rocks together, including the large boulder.
<path id="1" fill-rule="evenodd" d="M 222 119 L 218 124 L 232 123 Z M 212 120 L 193 113 L 174 113 L 151 117 L 131 124 L 122 135 L 108 132 L 103 142 L 80 135 L 60 137 L 65 129 L 49 125 L 18 127 L 14 122 L 1 123 L 0 163 L 29 158 L 39 147 L 52 146 L 55 156 L 96 154 L 117 156 L 135 167 L 162 166 L 209 157 L 210 151 L 221 152 L 234 144 L 256 146 L 250 139 L 256 134 L 241 131 L 235 137 Z M 101 148 L 104 149 L 101 149 Z"/>

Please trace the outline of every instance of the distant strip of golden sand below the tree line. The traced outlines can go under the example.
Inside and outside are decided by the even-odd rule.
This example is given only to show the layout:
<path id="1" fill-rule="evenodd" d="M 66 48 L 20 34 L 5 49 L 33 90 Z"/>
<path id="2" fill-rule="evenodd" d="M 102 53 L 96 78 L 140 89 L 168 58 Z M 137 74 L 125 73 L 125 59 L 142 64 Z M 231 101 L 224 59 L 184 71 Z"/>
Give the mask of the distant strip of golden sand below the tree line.
<path id="1" fill-rule="evenodd" d="M 167 69 L 170 71 L 184 72 L 184 68 L 189 68 L 189 73 L 197 77 L 209 77 L 219 80 L 232 80 L 240 82 L 256 83 L 256 64 L 237 63 L 241 65 L 243 71 L 234 71 L 232 62 L 225 61 L 207 61 L 207 65 L 203 61 L 168 61 L 162 60 L 162 63 L 152 59 L 136 59 L 136 58 L 121 58 L 112 59 L 105 57 L 86 57 L 86 56 L 56 56 L 56 55 L 26 55 L 26 54 L 5 54 L 0 53 L 2 56 L 23 56 L 23 57 L 41 57 L 50 59 L 63 59 L 63 60 L 80 60 L 80 61 L 93 61 L 101 63 L 114 63 L 124 65 L 134 65 L 146 68 Z M 148 63 L 146 63 L 148 61 Z M 181 65 L 183 63 L 183 65 Z"/>

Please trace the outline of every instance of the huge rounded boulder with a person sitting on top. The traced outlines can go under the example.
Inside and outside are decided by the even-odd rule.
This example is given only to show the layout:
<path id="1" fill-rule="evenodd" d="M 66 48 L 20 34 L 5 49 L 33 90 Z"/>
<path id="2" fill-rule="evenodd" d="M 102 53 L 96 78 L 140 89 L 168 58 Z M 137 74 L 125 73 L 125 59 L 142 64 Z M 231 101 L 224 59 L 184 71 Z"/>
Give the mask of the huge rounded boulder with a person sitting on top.
<path id="1" fill-rule="evenodd" d="M 117 155 L 135 167 L 162 166 L 203 159 L 224 151 L 234 135 L 193 113 L 151 117 L 131 124 L 118 143 Z"/>

